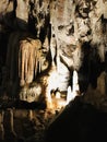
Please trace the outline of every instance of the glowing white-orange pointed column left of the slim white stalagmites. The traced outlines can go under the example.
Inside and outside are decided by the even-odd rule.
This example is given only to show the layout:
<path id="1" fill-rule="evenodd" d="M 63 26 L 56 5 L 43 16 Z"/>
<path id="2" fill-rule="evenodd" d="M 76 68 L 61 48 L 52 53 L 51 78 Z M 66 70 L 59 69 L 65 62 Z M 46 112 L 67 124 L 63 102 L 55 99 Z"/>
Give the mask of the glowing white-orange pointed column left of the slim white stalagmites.
<path id="1" fill-rule="evenodd" d="M 61 109 L 66 106 L 66 99 L 61 98 L 61 92 L 58 90 L 59 80 L 58 80 L 58 72 L 56 66 L 52 66 L 49 78 L 48 78 L 48 86 L 46 92 L 47 98 L 47 108 L 52 110 Z M 51 92 L 54 91 L 54 92 Z"/>

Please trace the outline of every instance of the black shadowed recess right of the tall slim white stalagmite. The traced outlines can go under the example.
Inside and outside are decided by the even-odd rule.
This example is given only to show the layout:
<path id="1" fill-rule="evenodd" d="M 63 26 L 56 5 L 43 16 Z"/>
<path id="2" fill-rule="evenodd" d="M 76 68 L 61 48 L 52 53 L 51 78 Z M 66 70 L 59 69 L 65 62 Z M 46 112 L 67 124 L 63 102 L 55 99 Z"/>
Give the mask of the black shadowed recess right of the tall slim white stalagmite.
<path id="1" fill-rule="evenodd" d="M 88 85 L 93 88 L 97 87 L 97 78 L 103 71 L 106 71 L 106 55 L 105 61 L 100 60 L 97 52 L 97 45 L 91 45 L 90 43 L 84 43 L 82 45 L 83 60 L 82 66 L 79 70 L 79 84 L 80 92 L 86 92 Z"/>

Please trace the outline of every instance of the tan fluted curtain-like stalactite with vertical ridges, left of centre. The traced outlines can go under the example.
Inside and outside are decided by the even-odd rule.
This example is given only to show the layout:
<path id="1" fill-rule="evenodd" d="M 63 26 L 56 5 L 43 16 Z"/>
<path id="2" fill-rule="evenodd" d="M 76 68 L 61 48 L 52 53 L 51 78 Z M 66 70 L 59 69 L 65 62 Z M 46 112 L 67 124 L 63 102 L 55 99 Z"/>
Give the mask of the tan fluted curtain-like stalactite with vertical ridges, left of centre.
<path id="1" fill-rule="evenodd" d="M 21 80 L 21 86 L 33 81 L 34 72 L 36 73 L 38 69 L 38 67 L 35 66 L 38 66 L 38 63 L 40 62 L 40 48 L 41 43 L 39 39 L 27 38 L 20 42 L 19 75 Z"/>

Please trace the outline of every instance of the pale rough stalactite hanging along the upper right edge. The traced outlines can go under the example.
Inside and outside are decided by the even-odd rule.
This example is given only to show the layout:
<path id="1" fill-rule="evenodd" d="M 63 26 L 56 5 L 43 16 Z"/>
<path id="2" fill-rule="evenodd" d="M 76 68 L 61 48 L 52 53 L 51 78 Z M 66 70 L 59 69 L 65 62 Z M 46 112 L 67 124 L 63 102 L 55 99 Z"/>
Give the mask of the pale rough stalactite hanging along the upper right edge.
<path id="1" fill-rule="evenodd" d="M 95 7 L 95 8 L 94 8 Z M 103 16 L 105 14 L 106 2 L 103 0 L 96 1 L 90 12 L 91 28 L 92 28 L 92 45 L 97 45 L 97 51 L 100 61 L 105 61 L 105 32 L 103 32 Z M 106 10 L 107 11 L 107 10 Z M 107 12 L 106 12 L 107 13 Z"/>

